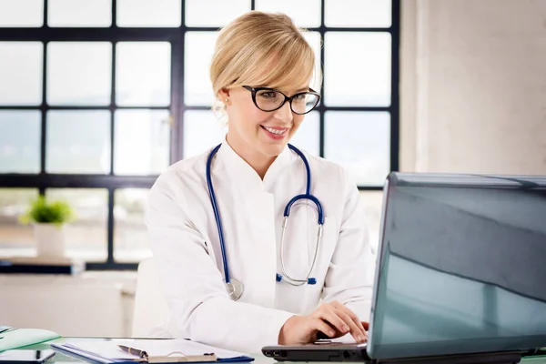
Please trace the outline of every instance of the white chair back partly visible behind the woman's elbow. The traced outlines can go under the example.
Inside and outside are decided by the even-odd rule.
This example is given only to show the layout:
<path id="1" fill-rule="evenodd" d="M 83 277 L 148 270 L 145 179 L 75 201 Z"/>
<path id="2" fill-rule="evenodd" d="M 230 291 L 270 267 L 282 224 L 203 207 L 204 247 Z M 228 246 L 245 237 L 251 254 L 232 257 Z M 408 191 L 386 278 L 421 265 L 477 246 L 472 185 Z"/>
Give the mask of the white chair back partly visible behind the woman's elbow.
<path id="1" fill-rule="evenodd" d="M 170 310 L 161 290 L 154 258 L 138 264 L 133 314 L 133 338 L 172 338 L 167 327 Z"/>

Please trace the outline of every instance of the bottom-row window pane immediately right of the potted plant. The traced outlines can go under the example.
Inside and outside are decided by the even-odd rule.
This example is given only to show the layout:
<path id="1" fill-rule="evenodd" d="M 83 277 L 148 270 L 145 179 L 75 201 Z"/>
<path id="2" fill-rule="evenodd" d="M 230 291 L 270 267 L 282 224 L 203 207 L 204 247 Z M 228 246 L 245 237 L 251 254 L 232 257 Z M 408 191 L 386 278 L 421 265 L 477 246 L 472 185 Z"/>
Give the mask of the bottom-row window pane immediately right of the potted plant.
<path id="1" fill-rule="evenodd" d="M 108 254 L 106 189 L 50 188 L 45 190 L 45 197 L 66 201 L 76 213 L 76 220 L 66 226 L 66 256 L 105 261 Z"/>

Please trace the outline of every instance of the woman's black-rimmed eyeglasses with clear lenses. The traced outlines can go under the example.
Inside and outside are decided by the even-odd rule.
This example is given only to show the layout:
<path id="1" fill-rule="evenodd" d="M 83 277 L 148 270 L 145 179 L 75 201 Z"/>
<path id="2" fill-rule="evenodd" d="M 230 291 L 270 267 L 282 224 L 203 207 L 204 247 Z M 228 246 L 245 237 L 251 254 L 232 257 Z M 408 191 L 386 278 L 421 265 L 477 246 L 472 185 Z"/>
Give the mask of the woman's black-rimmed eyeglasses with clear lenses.
<path id="1" fill-rule="evenodd" d="M 309 88 L 309 92 L 300 92 L 291 97 L 275 88 L 243 86 L 252 93 L 254 105 L 262 111 L 275 111 L 288 101 L 294 114 L 304 115 L 314 109 L 320 101 L 320 95 Z"/>

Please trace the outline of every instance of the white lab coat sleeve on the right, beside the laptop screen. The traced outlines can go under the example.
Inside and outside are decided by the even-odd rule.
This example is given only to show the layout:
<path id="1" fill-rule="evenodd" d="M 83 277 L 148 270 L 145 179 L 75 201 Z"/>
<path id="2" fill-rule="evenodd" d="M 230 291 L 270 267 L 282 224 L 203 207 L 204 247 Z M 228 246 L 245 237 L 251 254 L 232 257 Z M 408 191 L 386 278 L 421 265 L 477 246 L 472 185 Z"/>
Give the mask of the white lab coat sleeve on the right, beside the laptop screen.
<path id="1" fill-rule="evenodd" d="M 369 321 L 375 255 L 369 245 L 369 231 L 359 190 L 344 172 L 346 198 L 339 237 L 329 263 L 322 298 L 338 300 L 360 320 Z"/>

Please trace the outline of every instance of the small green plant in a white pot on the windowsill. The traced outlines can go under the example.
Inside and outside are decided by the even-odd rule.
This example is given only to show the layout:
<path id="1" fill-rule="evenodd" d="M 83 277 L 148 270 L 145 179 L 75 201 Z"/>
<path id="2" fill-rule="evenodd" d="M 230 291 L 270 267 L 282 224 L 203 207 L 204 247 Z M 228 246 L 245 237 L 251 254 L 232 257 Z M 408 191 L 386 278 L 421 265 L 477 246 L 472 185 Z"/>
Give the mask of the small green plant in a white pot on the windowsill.
<path id="1" fill-rule="evenodd" d="M 65 256 L 65 226 L 75 218 L 74 211 L 65 201 L 47 201 L 40 196 L 19 219 L 33 224 L 38 257 Z"/>

